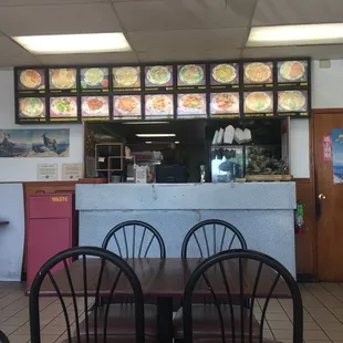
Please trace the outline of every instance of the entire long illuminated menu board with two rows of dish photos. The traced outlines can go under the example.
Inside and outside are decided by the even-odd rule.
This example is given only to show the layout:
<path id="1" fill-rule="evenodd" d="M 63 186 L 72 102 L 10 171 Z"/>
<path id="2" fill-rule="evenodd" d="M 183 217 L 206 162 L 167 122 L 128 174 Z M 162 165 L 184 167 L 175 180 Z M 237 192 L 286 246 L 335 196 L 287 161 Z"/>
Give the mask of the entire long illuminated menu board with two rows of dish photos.
<path id="1" fill-rule="evenodd" d="M 306 117 L 310 59 L 15 67 L 15 123 Z"/>

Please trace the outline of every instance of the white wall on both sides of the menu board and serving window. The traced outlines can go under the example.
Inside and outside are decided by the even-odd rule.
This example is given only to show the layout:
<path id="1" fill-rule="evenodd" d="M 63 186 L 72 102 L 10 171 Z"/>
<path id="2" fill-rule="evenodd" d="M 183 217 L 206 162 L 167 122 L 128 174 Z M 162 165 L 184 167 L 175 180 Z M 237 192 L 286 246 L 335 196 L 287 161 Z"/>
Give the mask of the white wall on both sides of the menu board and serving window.
<path id="1" fill-rule="evenodd" d="M 312 108 L 343 107 L 343 60 L 331 61 L 330 69 L 312 63 Z M 29 128 L 39 125 L 14 125 L 14 84 L 12 71 L 0 71 L 0 128 Z M 44 125 L 49 127 L 49 125 Z M 70 128 L 70 157 L 60 158 L 0 158 L 0 181 L 30 181 L 37 179 L 37 164 L 58 163 L 62 176 L 63 163 L 83 162 L 83 129 L 81 124 L 50 125 L 52 128 Z M 291 119 L 290 170 L 294 177 L 310 177 L 309 121 Z"/>

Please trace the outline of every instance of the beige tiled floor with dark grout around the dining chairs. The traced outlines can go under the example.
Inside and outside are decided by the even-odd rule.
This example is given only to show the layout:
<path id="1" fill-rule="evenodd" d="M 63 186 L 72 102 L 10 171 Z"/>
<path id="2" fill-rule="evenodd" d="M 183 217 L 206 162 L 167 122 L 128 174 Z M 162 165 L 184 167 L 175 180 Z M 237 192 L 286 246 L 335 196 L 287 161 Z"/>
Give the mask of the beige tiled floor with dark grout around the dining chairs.
<path id="1" fill-rule="evenodd" d="M 343 343 L 343 283 L 301 284 L 301 292 L 305 343 Z M 42 299 L 40 305 L 42 343 L 61 342 L 65 331 L 61 306 L 55 299 Z M 266 336 L 292 342 L 289 300 L 272 300 L 267 320 Z M 28 297 L 20 283 L 0 282 L 0 329 L 9 335 L 11 343 L 30 341 Z"/>

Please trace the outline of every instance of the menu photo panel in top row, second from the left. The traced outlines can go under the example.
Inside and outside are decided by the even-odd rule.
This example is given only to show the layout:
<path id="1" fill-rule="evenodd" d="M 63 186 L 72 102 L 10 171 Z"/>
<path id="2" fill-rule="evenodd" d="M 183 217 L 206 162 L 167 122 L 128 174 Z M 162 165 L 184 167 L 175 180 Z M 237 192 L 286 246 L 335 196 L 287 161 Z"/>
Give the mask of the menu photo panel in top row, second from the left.
<path id="1" fill-rule="evenodd" d="M 51 93 L 76 93 L 76 69 L 60 67 L 49 70 L 49 89 Z"/>

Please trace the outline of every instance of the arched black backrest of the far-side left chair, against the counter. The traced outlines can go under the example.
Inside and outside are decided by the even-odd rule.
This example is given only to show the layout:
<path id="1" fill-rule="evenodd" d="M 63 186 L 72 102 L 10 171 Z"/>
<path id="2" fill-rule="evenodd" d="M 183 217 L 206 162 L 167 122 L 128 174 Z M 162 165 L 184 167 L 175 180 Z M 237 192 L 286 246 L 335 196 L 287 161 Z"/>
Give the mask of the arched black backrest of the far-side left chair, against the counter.
<path id="1" fill-rule="evenodd" d="M 166 247 L 159 232 L 139 220 L 125 221 L 114 227 L 105 237 L 102 248 L 122 258 L 166 257 Z"/>

